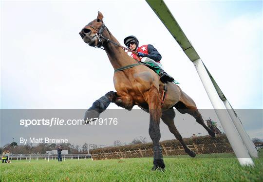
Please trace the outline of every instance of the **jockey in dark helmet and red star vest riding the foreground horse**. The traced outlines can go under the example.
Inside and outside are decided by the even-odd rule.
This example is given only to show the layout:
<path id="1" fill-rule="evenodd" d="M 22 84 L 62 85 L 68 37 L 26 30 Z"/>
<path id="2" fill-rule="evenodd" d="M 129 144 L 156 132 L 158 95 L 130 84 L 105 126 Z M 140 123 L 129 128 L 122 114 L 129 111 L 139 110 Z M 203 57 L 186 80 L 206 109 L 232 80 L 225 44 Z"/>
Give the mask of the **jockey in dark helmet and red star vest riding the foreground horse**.
<path id="1" fill-rule="evenodd" d="M 174 79 L 169 76 L 164 70 L 163 65 L 160 63 L 160 60 L 162 59 L 162 56 L 160 53 L 153 47 L 153 45 L 142 45 L 139 47 L 139 41 L 135 36 L 129 36 L 124 39 L 124 44 L 132 51 L 136 51 L 138 53 L 138 56 L 131 53 L 129 56 L 134 58 L 137 61 L 142 61 L 151 65 L 154 65 L 155 67 L 158 67 L 160 70 L 159 76 L 160 80 L 162 82 L 167 81 L 174 81 Z"/>

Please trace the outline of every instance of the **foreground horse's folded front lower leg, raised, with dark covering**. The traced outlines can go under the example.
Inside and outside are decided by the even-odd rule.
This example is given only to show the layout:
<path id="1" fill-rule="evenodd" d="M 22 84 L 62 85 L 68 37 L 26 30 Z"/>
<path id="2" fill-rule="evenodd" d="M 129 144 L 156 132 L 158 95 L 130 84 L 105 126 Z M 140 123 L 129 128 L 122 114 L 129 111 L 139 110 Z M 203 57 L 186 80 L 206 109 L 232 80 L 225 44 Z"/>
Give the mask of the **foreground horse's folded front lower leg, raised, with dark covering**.
<path id="1" fill-rule="evenodd" d="M 99 114 L 107 109 L 111 102 L 115 100 L 116 92 L 110 91 L 105 96 L 94 101 L 92 106 L 86 111 L 84 116 L 85 124 L 88 124 L 94 118 L 99 118 Z"/>

